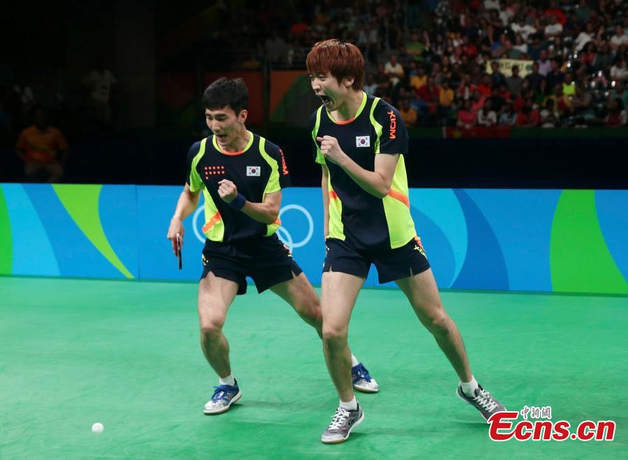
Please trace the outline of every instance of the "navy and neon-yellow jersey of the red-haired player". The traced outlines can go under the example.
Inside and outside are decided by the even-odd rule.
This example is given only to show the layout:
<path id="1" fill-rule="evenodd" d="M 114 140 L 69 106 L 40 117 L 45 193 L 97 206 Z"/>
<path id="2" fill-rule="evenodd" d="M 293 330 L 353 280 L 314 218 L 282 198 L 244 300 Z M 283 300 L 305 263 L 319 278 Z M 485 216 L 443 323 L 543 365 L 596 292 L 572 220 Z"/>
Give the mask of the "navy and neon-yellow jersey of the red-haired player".
<path id="1" fill-rule="evenodd" d="M 335 121 L 324 106 L 311 120 L 317 163 L 329 170 L 329 238 L 347 240 L 358 249 L 396 249 L 416 236 L 410 215 L 404 155 L 408 132 L 401 115 L 389 103 L 362 93 L 354 118 Z M 399 155 L 389 194 L 382 198 L 364 191 L 341 167 L 327 162 L 316 137 L 338 139 L 343 152 L 369 171 L 375 155 Z"/>

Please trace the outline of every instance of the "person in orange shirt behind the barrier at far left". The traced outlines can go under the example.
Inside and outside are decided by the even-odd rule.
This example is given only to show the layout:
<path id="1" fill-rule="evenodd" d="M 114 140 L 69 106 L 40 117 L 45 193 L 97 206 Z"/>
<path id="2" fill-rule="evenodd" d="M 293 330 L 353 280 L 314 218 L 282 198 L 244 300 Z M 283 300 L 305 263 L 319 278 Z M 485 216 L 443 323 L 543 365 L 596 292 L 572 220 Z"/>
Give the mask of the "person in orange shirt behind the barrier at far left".
<path id="1" fill-rule="evenodd" d="M 68 158 L 68 143 L 61 131 L 48 125 L 42 107 L 33 109 L 33 125 L 17 138 L 17 155 L 24 162 L 26 181 L 59 182 L 63 176 L 62 164 Z"/>

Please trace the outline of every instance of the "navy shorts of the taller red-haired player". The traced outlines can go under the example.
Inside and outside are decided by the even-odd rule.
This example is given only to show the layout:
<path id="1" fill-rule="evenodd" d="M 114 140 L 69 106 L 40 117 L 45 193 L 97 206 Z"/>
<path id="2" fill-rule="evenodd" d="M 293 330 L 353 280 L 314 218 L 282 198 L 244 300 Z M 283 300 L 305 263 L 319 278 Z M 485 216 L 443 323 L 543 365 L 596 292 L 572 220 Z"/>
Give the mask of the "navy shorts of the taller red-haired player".
<path id="1" fill-rule="evenodd" d="M 342 272 L 366 278 L 371 263 L 374 263 L 380 284 L 417 275 L 430 268 L 420 238 L 389 250 L 358 250 L 337 238 L 327 238 L 325 246 L 327 256 L 323 272 Z"/>

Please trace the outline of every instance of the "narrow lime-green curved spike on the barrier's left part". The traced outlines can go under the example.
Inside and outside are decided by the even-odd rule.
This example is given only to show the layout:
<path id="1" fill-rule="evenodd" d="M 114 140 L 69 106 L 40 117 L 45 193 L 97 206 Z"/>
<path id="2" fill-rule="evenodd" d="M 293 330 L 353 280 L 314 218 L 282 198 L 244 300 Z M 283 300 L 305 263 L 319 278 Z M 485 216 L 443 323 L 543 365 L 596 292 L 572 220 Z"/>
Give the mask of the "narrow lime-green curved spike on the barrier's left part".
<path id="1" fill-rule="evenodd" d="M 98 213 L 98 197 L 102 185 L 52 185 L 61 204 L 81 231 L 87 236 L 100 254 L 110 261 L 127 278 L 133 275 L 124 266 L 111 247 Z"/>

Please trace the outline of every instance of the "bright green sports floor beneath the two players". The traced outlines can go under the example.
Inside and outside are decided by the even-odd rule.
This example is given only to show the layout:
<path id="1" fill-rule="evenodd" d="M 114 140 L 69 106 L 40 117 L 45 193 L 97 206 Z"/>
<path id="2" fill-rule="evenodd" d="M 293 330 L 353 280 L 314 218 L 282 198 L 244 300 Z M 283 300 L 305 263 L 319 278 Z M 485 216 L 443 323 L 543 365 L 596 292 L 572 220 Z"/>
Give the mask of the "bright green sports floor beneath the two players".
<path id="1" fill-rule="evenodd" d="M 202 413 L 217 378 L 196 284 L 0 277 L 0 459 L 626 458 L 628 298 L 442 293 L 474 375 L 511 410 L 614 420 L 615 440 L 496 443 L 398 290 L 365 289 L 352 351 L 380 384 L 350 439 L 323 445 L 338 400 L 320 340 L 249 289 L 225 334 L 243 397 Z M 91 425 L 105 425 L 103 434 Z"/>

